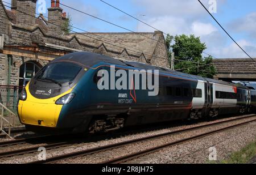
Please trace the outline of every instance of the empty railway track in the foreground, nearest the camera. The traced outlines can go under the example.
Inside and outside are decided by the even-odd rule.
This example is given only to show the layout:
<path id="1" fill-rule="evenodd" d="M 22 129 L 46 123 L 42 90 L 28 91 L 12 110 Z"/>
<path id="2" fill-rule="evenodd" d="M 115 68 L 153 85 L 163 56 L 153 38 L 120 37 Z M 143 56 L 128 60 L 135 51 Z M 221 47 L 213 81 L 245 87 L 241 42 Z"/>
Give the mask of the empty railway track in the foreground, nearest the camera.
<path id="1" fill-rule="evenodd" d="M 256 121 L 256 116 L 251 115 L 251 116 L 246 116 L 246 117 L 241 117 L 241 118 L 229 119 L 229 120 L 226 120 L 226 121 L 220 121 L 220 122 L 215 122 L 215 123 L 207 123 L 207 124 L 204 124 L 204 125 L 191 127 L 191 128 L 188 128 L 188 129 L 170 131 L 168 133 L 146 136 L 144 138 L 129 140 L 129 141 L 115 143 L 115 144 L 109 144 L 109 145 L 106 145 L 106 146 L 91 148 L 91 149 L 88 149 L 88 150 L 77 151 L 77 152 L 67 153 L 67 154 L 64 154 L 64 155 L 49 157 L 45 161 L 33 161 L 30 164 L 57 163 L 58 161 L 61 161 L 61 160 L 75 159 L 76 157 L 96 156 L 98 153 L 111 151 L 111 150 L 114 150 L 114 149 L 117 149 L 117 148 L 122 148 L 124 146 L 129 145 L 129 144 L 135 144 L 135 143 L 139 144 L 139 143 L 142 143 L 142 142 L 145 142 L 145 141 L 148 141 L 148 140 L 153 141 L 153 140 L 156 140 L 156 139 L 160 139 L 160 138 L 163 138 L 164 136 L 172 136 L 172 135 L 175 135 L 175 134 L 197 131 L 197 130 L 200 131 L 202 129 L 207 129 L 207 127 L 211 128 L 211 127 L 216 127 L 216 126 L 221 125 L 221 124 L 230 123 L 230 122 L 237 122 L 237 121 L 240 121 L 240 122 L 234 123 L 233 125 L 224 126 L 224 127 L 218 128 L 218 129 L 214 129 L 212 131 L 207 131 L 207 132 L 204 132 L 204 133 L 201 133 L 201 134 L 195 134 L 195 135 L 189 136 L 188 138 L 177 139 L 177 140 L 172 141 L 172 142 L 161 144 L 159 146 L 154 146 L 154 147 L 151 147 L 151 148 L 148 148 L 148 149 L 145 149 L 145 150 L 142 150 L 142 151 L 130 153 L 130 154 L 127 154 L 127 155 L 124 155 L 124 156 L 119 156 L 119 157 L 117 156 L 114 159 L 101 161 L 100 163 L 125 163 L 126 161 L 136 159 L 138 157 L 141 157 L 141 156 L 147 155 L 149 153 L 161 150 L 161 149 L 163 149 L 165 147 L 168 147 L 168 146 L 174 146 L 176 144 L 181 144 L 181 143 L 184 143 L 184 142 L 188 142 L 188 141 L 193 140 L 193 139 L 199 139 L 199 138 L 202 138 L 204 136 L 208 136 L 208 135 L 211 135 L 211 134 L 219 133 L 221 131 L 233 129 L 234 127 L 246 125 L 247 123 Z"/>

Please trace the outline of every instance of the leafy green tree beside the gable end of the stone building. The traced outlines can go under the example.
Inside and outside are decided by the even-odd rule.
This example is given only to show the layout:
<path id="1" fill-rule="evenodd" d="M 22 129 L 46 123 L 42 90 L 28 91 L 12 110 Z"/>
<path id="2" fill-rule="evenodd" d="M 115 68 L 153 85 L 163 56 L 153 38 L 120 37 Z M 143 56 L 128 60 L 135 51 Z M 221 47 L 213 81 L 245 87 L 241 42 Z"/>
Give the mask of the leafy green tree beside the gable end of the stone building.
<path id="1" fill-rule="evenodd" d="M 174 44 L 171 45 L 166 39 L 167 49 L 175 53 L 175 70 L 192 75 L 200 75 L 213 78 L 216 75 L 216 68 L 212 64 L 212 56 L 204 57 L 202 53 L 207 49 L 200 37 L 194 35 L 180 35 L 174 37 Z M 170 53 L 169 59 L 170 59 Z"/>

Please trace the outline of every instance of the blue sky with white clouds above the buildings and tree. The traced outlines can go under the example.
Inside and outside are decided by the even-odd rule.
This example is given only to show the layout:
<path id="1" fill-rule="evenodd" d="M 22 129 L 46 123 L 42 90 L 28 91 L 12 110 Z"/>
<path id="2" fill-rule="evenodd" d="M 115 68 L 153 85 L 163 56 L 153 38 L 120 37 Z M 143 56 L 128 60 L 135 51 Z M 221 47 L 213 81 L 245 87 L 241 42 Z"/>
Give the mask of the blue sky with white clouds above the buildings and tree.
<path id="1" fill-rule="evenodd" d="M 3 0 L 10 2 L 11 0 Z M 42 3 L 44 0 L 38 1 Z M 214 22 L 197 0 L 104 0 L 136 18 L 176 35 L 196 35 L 207 45 L 206 53 L 216 58 L 247 58 L 246 54 Z M 47 8 L 50 0 L 46 0 Z M 153 28 L 109 7 L 100 0 L 60 0 L 61 3 L 87 12 L 135 32 L 154 32 Z M 256 57 L 256 1 L 255 0 L 201 0 L 210 9 L 216 2 L 213 16 L 251 57 Z M 75 27 L 89 32 L 128 32 L 101 22 L 70 8 L 61 6 L 71 15 Z M 37 10 L 38 12 L 38 10 Z M 38 12 L 39 13 L 39 12 Z M 44 14 L 47 16 L 47 10 Z M 74 29 L 76 32 L 79 29 Z"/>

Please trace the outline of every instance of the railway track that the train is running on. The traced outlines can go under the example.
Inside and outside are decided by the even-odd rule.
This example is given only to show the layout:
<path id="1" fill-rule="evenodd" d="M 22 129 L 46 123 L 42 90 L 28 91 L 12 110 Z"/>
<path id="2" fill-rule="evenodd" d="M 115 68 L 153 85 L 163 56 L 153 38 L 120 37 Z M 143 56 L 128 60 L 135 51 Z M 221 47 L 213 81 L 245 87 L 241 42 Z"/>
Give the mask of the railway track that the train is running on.
<path id="1" fill-rule="evenodd" d="M 47 150 L 52 150 L 60 147 L 66 147 L 70 146 L 71 144 L 78 144 L 82 142 L 97 142 L 98 140 L 102 139 L 113 139 L 113 138 L 120 138 L 121 136 L 127 136 L 130 134 L 142 134 L 144 132 L 148 131 L 158 131 L 162 129 L 168 129 L 170 127 L 177 127 L 180 126 L 180 123 L 174 123 L 174 125 L 164 125 L 164 126 L 154 126 L 154 127 L 146 127 L 146 128 L 140 128 L 138 130 L 135 130 L 133 132 L 131 131 L 121 131 L 119 133 L 115 134 L 108 134 L 103 136 L 95 136 L 93 135 L 93 139 L 90 138 L 79 138 L 77 139 L 73 138 L 72 140 L 68 138 L 67 135 L 62 135 L 62 139 L 57 138 L 57 140 L 60 140 L 59 142 L 56 142 L 56 136 L 52 135 L 43 135 L 43 136 L 32 136 L 31 138 L 22 138 L 22 139 L 15 139 L 15 140 L 9 140 L 6 142 L 0 142 L 0 160 L 6 157 L 11 156 L 18 156 L 18 155 L 26 155 L 28 153 L 37 152 L 39 147 L 45 147 Z M 54 140 L 54 142 L 52 141 Z M 45 142 L 49 142 L 46 144 Z M 24 148 L 22 148 L 24 147 Z"/>

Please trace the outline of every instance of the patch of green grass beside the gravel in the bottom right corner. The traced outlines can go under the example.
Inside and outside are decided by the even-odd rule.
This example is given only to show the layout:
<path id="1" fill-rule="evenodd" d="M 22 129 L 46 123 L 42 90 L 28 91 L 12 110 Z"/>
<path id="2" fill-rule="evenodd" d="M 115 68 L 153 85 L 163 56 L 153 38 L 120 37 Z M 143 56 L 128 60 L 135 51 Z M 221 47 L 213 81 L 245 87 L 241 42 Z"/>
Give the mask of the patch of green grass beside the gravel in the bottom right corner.
<path id="1" fill-rule="evenodd" d="M 221 161 L 208 161 L 209 164 L 246 164 L 256 155 L 256 139 L 247 144 L 240 151 L 233 152 L 228 159 Z"/>

